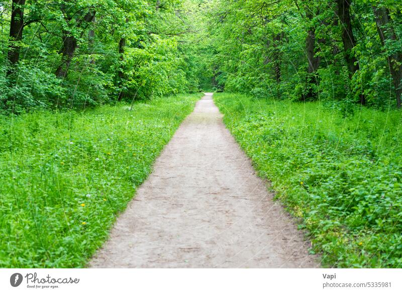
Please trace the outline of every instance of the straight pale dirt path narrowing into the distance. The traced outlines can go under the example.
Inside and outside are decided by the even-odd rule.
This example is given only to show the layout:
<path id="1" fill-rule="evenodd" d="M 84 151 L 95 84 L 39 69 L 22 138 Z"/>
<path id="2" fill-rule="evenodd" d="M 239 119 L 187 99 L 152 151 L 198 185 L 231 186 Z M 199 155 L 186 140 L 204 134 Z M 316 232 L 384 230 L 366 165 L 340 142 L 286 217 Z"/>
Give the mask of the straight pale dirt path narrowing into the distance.
<path id="1" fill-rule="evenodd" d="M 90 266 L 318 266 L 307 250 L 206 94 Z"/>

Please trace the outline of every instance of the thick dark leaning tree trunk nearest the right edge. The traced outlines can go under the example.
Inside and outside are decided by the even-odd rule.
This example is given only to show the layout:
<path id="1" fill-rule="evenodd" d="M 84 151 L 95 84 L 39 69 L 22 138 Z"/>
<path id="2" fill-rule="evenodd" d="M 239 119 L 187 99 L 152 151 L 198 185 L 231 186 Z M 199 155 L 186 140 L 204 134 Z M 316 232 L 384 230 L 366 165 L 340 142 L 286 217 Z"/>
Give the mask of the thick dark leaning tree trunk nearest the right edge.
<path id="1" fill-rule="evenodd" d="M 389 10 L 386 8 L 373 8 L 373 10 L 378 35 L 382 45 L 385 46 L 386 40 L 396 41 L 397 36 L 393 26 L 391 25 Z M 400 81 L 402 80 L 402 66 L 400 64 L 402 63 L 402 52 L 394 52 L 387 55 L 387 58 L 389 73 L 391 74 L 393 86 L 395 87 L 396 106 L 397 108 L 400 108 L 402 94 L 402 86 L 400 85 Z"/>

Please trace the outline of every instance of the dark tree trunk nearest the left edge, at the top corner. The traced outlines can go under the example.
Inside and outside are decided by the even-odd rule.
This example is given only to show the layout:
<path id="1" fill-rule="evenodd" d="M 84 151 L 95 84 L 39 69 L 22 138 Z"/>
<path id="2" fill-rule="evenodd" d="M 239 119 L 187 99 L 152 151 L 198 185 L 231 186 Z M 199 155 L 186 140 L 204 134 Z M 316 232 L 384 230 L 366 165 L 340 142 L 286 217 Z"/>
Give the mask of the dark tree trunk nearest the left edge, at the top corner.
<path id="1" fill-rule="evenodd" d="M 16 42 L 22 40 L 22 32 L 24 29 L 24 5 L 25 0 L 13 0 L 10 22 L 10 46 L 8 52 L 8 59 L 11 66 L 8 70 L 8 74 L 12 72 L 12 67 L 17 64 L 20 59 L 20 46 L 17 45 Z"/>

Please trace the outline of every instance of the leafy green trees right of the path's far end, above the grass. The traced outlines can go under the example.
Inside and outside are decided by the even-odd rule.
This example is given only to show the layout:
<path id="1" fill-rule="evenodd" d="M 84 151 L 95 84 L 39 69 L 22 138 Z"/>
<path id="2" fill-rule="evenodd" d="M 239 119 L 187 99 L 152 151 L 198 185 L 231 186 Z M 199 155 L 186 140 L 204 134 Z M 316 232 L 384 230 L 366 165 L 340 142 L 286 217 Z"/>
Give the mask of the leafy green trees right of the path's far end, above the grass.
<path id="1" fill-rule="evenodd" d="M 292 101 L 400 107 L 402 2 L 210 2 L 219 88 Z"/>

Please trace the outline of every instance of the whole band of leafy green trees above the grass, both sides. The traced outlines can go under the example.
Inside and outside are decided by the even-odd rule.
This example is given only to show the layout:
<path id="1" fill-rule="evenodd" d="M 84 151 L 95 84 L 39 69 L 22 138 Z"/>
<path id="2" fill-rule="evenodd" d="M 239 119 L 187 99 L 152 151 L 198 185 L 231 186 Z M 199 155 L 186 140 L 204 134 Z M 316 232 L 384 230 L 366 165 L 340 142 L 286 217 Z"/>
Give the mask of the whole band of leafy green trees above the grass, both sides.
<path id="1" fill-rule="evenodd" d="M 395 0 L 0 2 L 0 108 L 176 92 L 401 106 Z"/>

